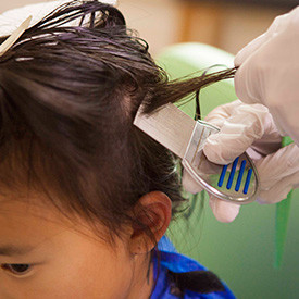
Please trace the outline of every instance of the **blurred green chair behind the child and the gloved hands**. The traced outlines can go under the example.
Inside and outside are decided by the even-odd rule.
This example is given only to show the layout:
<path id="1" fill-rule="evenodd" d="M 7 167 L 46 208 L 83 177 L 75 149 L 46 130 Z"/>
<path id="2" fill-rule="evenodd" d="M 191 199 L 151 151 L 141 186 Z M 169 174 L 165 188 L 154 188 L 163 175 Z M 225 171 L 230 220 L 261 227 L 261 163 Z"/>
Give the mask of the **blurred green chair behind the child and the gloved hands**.
<path id="1" fill-rule="evenodd" d="M 233 60 L 229 53 L 194 42 L 171 46 L 157 57 L 172 79 L 191 73 L 200 75 L 215 64 L 225 65 L 222 70 L 233 67 Z M 202 89 L 202 117 L 236 98 L 233 79 Z M 179 108 L 194 116 L 195 101 Z M 292 192 L 284 259 L 278 270 L 273 266 L 276 204 L 244 205 L 233 223 L 224 224 L 214 219 L 207 203 L 208 196 L 202 192 L 197 200 L 190 200 L 190 215 L 183 214 L 171 224 L 167 236 L 177 250 L 217 274 L 237 298 L 299 298 L 299 189 Z"/>

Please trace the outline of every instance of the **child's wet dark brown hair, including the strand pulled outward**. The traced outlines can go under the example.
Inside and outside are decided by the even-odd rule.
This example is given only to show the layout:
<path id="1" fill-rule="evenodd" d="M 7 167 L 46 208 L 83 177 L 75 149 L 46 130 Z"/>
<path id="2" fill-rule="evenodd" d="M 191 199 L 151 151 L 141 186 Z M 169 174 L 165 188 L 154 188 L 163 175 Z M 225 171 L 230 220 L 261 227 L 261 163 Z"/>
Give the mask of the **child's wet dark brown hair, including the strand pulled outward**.
<path id="1" fill-rule="evenodd" d="M 129 215 L 142 195 L 165 192 L 173 217 L 186 200 L 177 158 L 133 125 L 139 105 L 152 113 L 233 75 L 170 82 L 116 8 L 59 7 L 0 58 L 0 192 L 41 191 L 70 219 L 101 222 L 112 244 L 127 223 L 150 235 Z"/>

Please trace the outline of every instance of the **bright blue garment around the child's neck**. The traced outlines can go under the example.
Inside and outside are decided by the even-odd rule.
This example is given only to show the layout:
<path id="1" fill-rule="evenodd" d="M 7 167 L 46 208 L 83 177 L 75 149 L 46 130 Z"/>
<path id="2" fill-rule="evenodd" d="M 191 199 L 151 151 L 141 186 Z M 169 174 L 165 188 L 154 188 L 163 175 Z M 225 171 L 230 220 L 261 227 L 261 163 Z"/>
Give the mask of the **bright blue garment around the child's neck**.
<path id="1" fill-rule="evenodd" d="M 154 287 L 154 290 L 151 295 L 151 299 L 177 299 L 177 298 L 202 298 L 202 299 L 236 299 L 234 294 L 228 289 L 225 283 L 221 282 L 224 290 L 222 291 L 211 291 L 211 292 L 198 292 L 189 289 L 184 290 L 183 297 L 175 295 L 174 292 L 174 282 L 172 282 L 167 275 L 167 272 L 174 273 L 185 273 L 191 271 L 207 271 L 196 260 L 192 260 L 186 256 L 179 254 L 173 244 L 170 241 L 166 236 L 163 236 L 158 242 L 158 249 L 160 251 L 160 273 L 159 279 Z M 158 274 L 158 259 L 157 256 L 153 256 L 153 275 L 154 279 Z"/>

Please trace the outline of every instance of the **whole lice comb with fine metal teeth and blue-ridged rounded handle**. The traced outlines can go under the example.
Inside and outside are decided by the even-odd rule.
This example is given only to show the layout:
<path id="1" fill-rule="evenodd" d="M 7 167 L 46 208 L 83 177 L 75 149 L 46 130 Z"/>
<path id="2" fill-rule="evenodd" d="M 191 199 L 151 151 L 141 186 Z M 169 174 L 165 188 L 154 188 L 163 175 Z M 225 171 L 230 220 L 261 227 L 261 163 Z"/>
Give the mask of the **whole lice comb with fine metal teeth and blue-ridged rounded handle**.
<path id="1" fill-rule="evenodd" d="M 141 109 L 134 125 L 178 155 L 184 169 L 202 188 L 220 199 L 239 204 L 256 199 L 259 177 L 246 152 L 227 165 L 214 164 L 203 154 L 205 139 L 217 133 L 217 127 L 194 121 L 172 103 L 149 115 L 142 114 Z"/>

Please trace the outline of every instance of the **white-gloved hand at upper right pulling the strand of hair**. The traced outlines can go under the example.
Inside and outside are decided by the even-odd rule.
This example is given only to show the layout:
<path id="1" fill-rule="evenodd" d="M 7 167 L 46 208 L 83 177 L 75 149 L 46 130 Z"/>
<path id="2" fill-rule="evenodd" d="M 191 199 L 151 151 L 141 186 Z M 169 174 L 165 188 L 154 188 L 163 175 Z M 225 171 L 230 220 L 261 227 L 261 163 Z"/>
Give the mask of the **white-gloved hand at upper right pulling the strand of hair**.
<path id="1" fill-rule="evenodd" d="M 238 98 L 266 105 L 281 135 L 299 146 L 299 7 L 240 50 L 235 66 Z"/>

